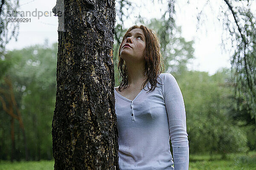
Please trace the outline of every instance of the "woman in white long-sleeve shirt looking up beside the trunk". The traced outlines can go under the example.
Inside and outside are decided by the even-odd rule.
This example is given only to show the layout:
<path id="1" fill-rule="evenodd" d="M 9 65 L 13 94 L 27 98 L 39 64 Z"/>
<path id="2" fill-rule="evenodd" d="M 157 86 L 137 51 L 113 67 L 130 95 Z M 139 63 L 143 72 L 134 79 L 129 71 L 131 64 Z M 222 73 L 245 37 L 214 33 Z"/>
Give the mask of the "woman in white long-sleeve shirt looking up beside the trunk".
<path id="1" fill-rule="evenodd" d="M 115 88 L 120 170 L 188 170 L 183 96 L 172 74 L 161 73 L 160 61 L 154 31 L 129 28 L 119 47 L 122 81 Z"/>

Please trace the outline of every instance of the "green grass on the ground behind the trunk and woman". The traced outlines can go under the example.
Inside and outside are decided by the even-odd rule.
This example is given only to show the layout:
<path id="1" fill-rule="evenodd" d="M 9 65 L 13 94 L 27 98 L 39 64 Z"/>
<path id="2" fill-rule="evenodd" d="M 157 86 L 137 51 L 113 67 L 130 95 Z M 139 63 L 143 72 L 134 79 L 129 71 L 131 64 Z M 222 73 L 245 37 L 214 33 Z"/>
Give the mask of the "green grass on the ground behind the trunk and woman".
<path id="1" fill-rule="evenodd" d="M 52 161 L 0 161 L 0 170 L 53 170 Z M 256 170 L 256 151 L 246 154 L 189 155 L 189 170 Z"/>

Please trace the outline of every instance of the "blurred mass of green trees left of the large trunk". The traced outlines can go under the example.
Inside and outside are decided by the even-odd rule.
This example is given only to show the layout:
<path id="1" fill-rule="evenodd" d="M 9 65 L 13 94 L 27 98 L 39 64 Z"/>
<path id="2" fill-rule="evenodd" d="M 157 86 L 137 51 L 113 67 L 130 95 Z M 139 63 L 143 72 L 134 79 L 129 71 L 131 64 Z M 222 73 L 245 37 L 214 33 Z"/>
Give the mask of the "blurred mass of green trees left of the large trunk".
<path id="1" fill-rule="evenodd" d="M 3 90 L 0 96 L 4 99 L 4 102 L 0 101 L 1 159 L 12 158 L 11 153 L 15 153 L 16 160 L 52 159 L 51 122 L 56 94 L 56 53 L 56 43 L 52 47 L 35 45 L 22 50 L 9 51 L 5 55 L 5 60 L 2 60 L 3 63 L 11 64 L 4 72 L 4 79 L 0 83 L 0 88 Z M 12 82 L 12 98 L 10 95 L 12 91 L 5 79 Z M 16 101 L 15 105 L 11 100 L 10 106 L 14 109 L 8 108 L 8 98 Z M 7 111 L 13 110 L 17 115 L 18 119 L 14 119 L 14 129 L 10 128 L 12 117 L 2 109 L 4 103 L 7 105 Z M 20 127 L 18 111 L 24 129 Z M 11 131 L 14 139 L 10 137 Z M 12 140 L 15 142 L 13 152 L 10 147 Z"/>

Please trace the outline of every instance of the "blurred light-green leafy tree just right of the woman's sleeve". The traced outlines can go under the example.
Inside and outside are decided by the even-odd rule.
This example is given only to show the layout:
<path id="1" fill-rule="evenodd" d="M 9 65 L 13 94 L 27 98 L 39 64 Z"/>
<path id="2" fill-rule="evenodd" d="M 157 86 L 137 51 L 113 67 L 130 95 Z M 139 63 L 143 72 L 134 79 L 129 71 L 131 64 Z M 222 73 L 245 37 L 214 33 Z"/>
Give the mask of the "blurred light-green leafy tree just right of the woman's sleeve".
<path id="1" fill-rule="evenodd" d="M 229 78 L 227 70 L 212 76 L 187 71 L 177 77 L 185 102 L 191 153 L 221 153 L 225 158 L 227 153 L 248 150 L 245 131 L 229 119 L 230 107 L 234 107 L 232 87 L 225 82 Z"/>

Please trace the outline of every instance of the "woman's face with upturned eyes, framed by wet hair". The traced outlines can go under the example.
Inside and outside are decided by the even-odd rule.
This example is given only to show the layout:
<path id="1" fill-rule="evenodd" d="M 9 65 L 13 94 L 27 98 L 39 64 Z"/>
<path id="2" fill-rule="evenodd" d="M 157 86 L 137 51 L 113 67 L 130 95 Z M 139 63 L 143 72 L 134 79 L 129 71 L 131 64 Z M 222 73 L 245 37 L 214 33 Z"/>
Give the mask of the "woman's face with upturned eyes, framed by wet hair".
<path id="1" fill-rule="evenodd" d="M 120 55 L 126 62 L 143 61 L 145 53 L 145 36 L 143 30 L 135 28 L 128 32 L 121 44 Z"/>

